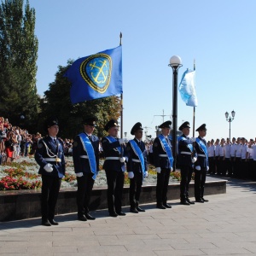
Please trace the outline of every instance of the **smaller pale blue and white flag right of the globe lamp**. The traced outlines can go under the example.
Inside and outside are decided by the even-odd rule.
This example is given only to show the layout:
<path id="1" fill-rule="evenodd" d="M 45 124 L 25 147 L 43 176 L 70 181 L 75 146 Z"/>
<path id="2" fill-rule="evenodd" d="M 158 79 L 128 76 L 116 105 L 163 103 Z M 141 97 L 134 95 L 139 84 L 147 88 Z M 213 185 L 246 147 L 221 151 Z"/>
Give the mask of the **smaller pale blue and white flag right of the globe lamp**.
<path id="1" fill-rule="evenodd" d="M 187 106 L 197 106 L 197 97 L 195 94 L 195 71 L 189 71 L 189 69 L 187 69 L 183 73 L 178 90 L 183 102 L 185 102 Z"/>

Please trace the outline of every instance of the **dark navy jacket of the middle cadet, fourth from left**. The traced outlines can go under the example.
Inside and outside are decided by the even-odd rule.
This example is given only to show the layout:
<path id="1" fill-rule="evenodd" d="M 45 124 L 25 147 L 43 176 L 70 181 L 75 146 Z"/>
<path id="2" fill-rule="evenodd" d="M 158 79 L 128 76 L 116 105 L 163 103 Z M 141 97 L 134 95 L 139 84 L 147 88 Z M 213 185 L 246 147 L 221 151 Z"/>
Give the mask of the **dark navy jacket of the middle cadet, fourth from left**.
<path id="1" fill-rule="evenodd" d="M 141 145 L 139 144 L 139 142 L 137 141 L 136 138 L 133 139 L 139 148 L 141 148 L 142 153 L 143 153 L 143 160 L 144 160 L 144 165 L 145 165 L 145 172 L 148 170 L 148 163 L 147 163 L 147 150 L 145 147 L 145 143 L 143 143 L 143 141 L 141 141 Z M 131 143 L 127 143 L 126 146 L 127 152 L 128 152 L 128 164 L 127 164 L 127 172 L 143 172 L 142 170 L 142 164 L 140 162 L 137 161 L 133 161 L 133 160 L 139 160 L 137 154 L 135 154 L 135 152 L 133 151 L 133 148 L 131 147 Z"/>

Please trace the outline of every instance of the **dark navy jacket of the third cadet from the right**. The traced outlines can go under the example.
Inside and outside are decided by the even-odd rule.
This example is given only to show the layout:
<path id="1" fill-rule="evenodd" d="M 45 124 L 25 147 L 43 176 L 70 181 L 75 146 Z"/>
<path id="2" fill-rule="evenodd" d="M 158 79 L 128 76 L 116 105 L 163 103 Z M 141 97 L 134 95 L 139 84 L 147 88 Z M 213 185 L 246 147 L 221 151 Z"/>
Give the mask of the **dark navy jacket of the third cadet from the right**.
<path id="1" fill-rule="evenodd" d="M 171 148 L 172 150 L 172 148 Z M 166 155 L 166 156 L 160 156 L 160 155 Z M 171 169 L 170 161 L 167 157 L 166 151 L 164 150 L 162 144 L 160 143 L 160 138 L 156 137 L 154 139 L 153 144 L 153 156 L 154 156 L 154 166 L 160 167 L 163 169 Z"/>

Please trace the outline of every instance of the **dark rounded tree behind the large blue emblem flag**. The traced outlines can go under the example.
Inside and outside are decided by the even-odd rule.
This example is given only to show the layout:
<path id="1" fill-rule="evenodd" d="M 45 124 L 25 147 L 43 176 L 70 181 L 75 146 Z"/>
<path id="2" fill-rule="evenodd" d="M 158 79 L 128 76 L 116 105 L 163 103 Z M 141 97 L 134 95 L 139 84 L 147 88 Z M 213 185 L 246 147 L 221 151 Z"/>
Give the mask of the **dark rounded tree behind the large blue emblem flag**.
<path id="1" fill-rule="evenodd" d="M 44 120 L 55 116 L 59 119 L 60 136 L 73 138 L 84 129 L 83 117 L 94 114 L 98 118 L 95 132 L 99 137 L 103 137 L 105 135 L 104 125 L 108 120 L 119 119 L 120 99 L 117 96 L 110 96 L 72 105 L 69 95 L 71 83 L 63 77 L 72 63 L 73 61 L 67 61 L 67 67 L 58 67 L 55 81 L 49 84 L 49 90 L 44 92 L 44 98 L 41 99 L 40 104 L 38 131 L 44 131 L 43 134 L 45 134 Z"/>

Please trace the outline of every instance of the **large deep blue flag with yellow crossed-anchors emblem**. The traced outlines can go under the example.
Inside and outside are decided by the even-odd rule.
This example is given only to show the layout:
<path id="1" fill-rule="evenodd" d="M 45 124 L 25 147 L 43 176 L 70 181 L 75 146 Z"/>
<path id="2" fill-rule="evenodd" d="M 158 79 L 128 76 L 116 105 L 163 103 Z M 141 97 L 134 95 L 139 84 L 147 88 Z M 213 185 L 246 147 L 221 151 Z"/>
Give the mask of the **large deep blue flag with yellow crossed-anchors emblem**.
<path id="1" fill-rule="evenodd" d="M 122 46 L 74 61 L 64 76 L 73 104 L 122 94 Z"/>

